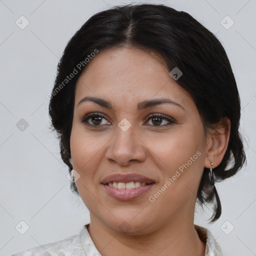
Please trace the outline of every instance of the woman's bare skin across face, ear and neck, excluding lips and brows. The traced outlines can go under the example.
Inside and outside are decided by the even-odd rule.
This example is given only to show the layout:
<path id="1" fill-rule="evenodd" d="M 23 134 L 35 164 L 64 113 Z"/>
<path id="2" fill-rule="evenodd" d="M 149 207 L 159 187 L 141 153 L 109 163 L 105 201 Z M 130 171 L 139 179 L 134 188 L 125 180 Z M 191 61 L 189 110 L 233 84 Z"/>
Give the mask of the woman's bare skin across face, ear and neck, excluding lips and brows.
<path id="1" fill-rule="evenodd" d="M 100 97 L 112 109 L 95 102 L 78 102 L 84 96 Z M 137 110 L 137 103 L 152 98 L 169 98 L 175 104 L 158 104 Z M 87 123 L 87 113 L 105 117 Z M 157 122 L 147 117 L 164 114 Z M 125 132 L 118 123 L 126 118 Z M 159 125 L 157 125 L 159 123 Z M 95 127 L 98 125 L 97 127 Z M 103 256 L 115 255 L 204 255 L 205 244 L 194 229 L 196 191 L 203 167 L 217 166 L 227 148 L 230 121 L 207 135 L 191 96 L 169 75 L 163 59 L 137 48 L 112 48 L 96 54 L 77 80 L 70 136 L 73 169 L 79 173 L 76 186 L 90 211 L 90 236 Z M 201 154 L 168 188 L 160 189 L 179 166 L 199 151 Z M 214 170 L 214 169 L 213 169 Z M 100 180 L 113 173 L 140 173 L 155 185 L 130 201 L 109 196 Z M 77 175 L 78 177 L 78 175 Z M 125 221 L 124 233 L 119 225 Z"/>

